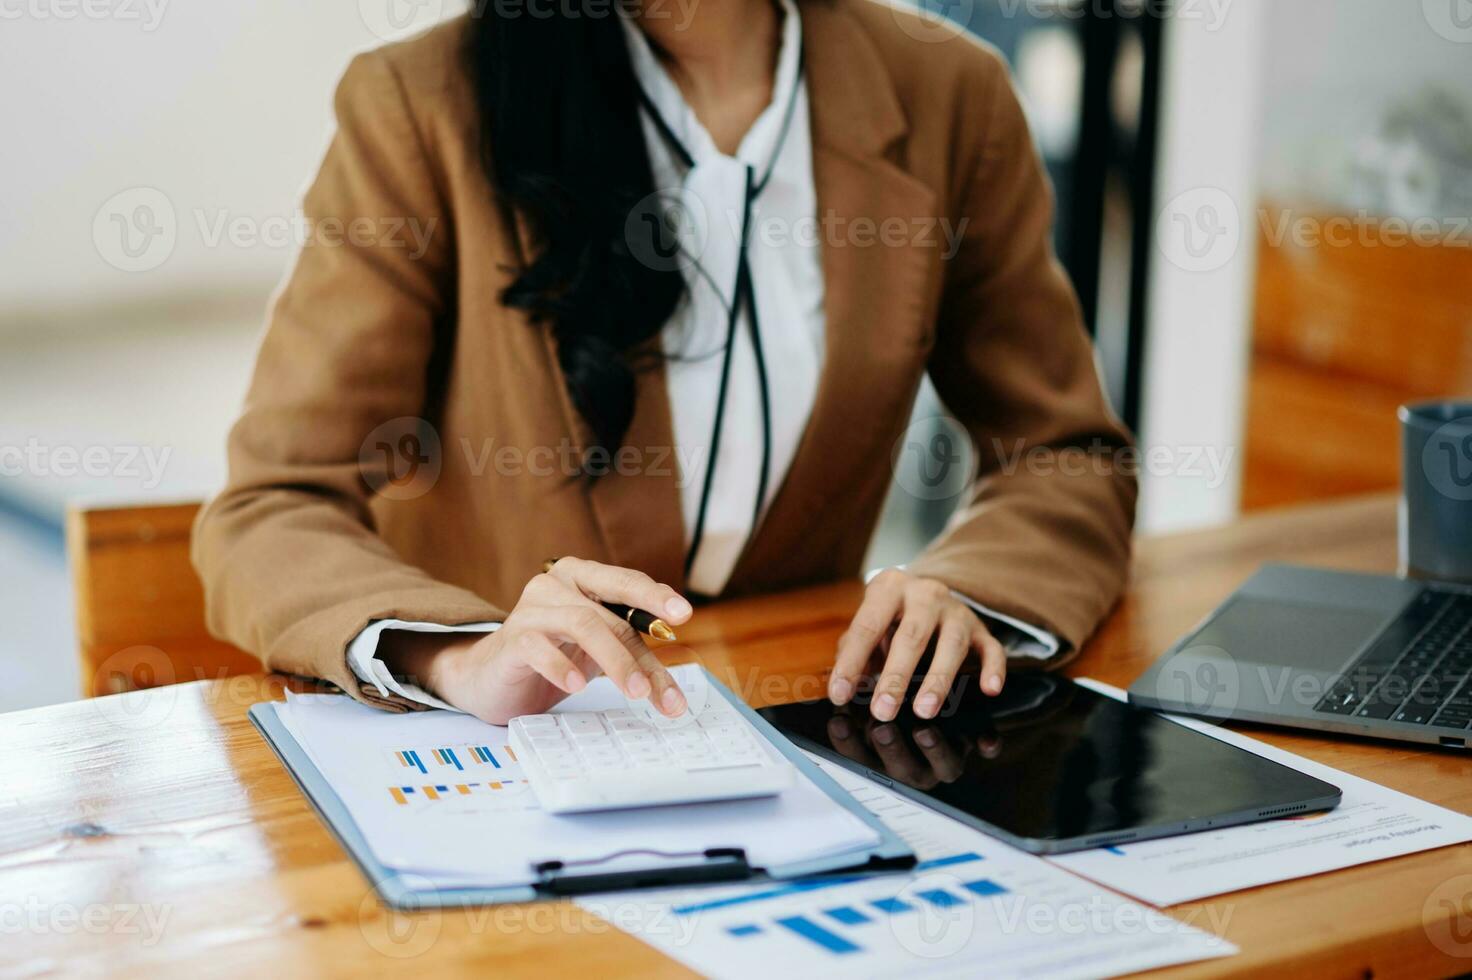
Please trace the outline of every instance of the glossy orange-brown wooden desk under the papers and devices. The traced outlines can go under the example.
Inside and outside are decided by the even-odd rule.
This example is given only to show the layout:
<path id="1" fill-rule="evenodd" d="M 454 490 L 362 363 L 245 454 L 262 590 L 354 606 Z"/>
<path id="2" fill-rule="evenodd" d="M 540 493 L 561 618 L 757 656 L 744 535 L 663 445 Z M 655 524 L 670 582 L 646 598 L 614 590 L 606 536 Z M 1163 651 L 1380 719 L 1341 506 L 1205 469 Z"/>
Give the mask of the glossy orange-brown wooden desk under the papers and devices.
<path id="1" fill-rule="evenodd" d="M 1390 571 L 1393 503 L 1142 542 L 1130 594 L 1073 672 L 1128 684 L 1263 561 Z M 754 703 L 813 696 L 858 596 L 845 584 L 732 603 L 687 633 Z M 384 911 L 246 720 L 283 683 L 234 677 L 0 717 L 0 974 L 684 973 L 567 903 Z M 1472 756 L 1256 734 L 1472 812 Z M 1472 846 L 1176 906 L 1242 948 L 1179 976 L 1472 970 L 1428 933 L 1448 934 L 1438 896 L 1460 899 L 1459 952 L 1472 956 L 1472 878 L 1459 876 L 1472 876 Z"/>

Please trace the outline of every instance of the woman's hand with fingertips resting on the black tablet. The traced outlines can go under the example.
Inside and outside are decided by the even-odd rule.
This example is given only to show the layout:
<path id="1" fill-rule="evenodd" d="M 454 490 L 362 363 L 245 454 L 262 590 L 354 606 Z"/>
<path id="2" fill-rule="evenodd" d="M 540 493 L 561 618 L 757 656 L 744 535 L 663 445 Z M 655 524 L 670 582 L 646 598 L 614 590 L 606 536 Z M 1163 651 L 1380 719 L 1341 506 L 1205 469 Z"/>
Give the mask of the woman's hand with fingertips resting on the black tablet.
<path id="1" fill-rule="evenodd" d="M 1007 652 L 980 617 L 952 596 L 945 583 L 889 568 L 868 583 L 863 605 L 848 631 L 839 637 L 829 700 L 848 703 L 870 656 L 880 649 L 885 665 L 874 684 L 870 712 L 879 721 L 892 721 L 932 639 L 935 656 L 916 695 L 917 715 L 935 718 L 970 650 L 982 655 L 977 678 L 982 690 L 988 695 L 1001 692 L 1007 677 Z"/>

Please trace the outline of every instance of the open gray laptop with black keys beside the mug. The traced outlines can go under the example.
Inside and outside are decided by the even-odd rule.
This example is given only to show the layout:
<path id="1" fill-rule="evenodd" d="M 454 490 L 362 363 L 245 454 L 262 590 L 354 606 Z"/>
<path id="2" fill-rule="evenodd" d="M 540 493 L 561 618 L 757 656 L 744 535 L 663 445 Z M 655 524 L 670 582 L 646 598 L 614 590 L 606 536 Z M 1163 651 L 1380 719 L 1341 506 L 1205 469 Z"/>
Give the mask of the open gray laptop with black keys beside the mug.
<path id="1" fill-rule="evenodd" d="M 1466 749 L 1472 586 L 1266 565 L 1129 689 L 1222 721 Z"/>

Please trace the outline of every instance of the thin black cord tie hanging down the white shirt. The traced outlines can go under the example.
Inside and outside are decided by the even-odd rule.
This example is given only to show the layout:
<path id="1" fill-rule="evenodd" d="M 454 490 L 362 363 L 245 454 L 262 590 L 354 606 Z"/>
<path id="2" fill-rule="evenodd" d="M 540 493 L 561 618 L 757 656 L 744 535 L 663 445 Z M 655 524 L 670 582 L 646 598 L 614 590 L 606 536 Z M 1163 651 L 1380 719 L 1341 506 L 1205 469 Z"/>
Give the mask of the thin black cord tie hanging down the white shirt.
<path id="1" fill-rule="evenodd" d="M 701 550 L 701 542 L 705 537 L 705 518 L 711 505 L 711 491 L 715 487 L 715 461 L 720 456 L 721 431 L 726 425 L 726 402 L 730 390 L 730 372 L 732 359 L 736 350 L 736 330 L 740 325 L 742 306 L 751 309 L 751 343 L 752 355 L 757 362 L 757 387 L 761 394 L 761 471 L 760 481 L 757 484 L 757 500 L 752 509 L 752 531 L 755 531 L 757 524 L 761 519 L 762 509 L 767 503 L 767 481 L 771 477 L 771 390 L 767 380 L 767 359 L 761 344 L 761 324 L 757 316 L 757 290 L 751 275 L 751 260 L 749 260 L 749 244 L 751 244 L 751 218 L 752 206 L 757 203 L 757 197 L 765 190 L 767 182 L 771 180 L 773 172 L 777 169 L 777 160 L 782 157 L 782 150 L 788 143 L 788 132 L 792 128 L 792 116 L 798 104 L 798 91 L 802 87 L 804 62 L 802 54 L 798 54 L 798 71 L 796 78 L 792 84 L 792 94 L 788 99 L 786 109 L 782 116 L 782 129 L 777 132 L 777 143 L 773 147 L 771 156 L 767 160 L 765 172 L 761 180 L 757 180 L 757 172 L 751 165 L 746 165 L 746 187 L 742 202 L 742 224 L 740 224 L 740 246 L 736 253 L 736 285 L 732 294 L 732 302 L 727 305 L 720 290 L 715 288 L 714 278 L 705 272 L 704 266 L 696 262 L 696 268 L 705 277 L 707 283 L 715 288 L 715 294 L 721 299 L 721 305 L 726 306 L 726 352 L 721 358 L 721 381 L 717 388 L 715 396 L 715 419 L 711 428 L 711 455 L 710 462 L 705 466 L 705 480 L 701 486 L 701 503 L 695 512 L 695 527 L 690 530 L 690 547 L 684 555 L 684 574 L 689 577 L 690 569 L 695 567 L 695 556 Z M 680 143 L 679 137 L 674 135 L 674 129 L 665 122 L 664 116 L 659 115 L 658 107 L 655 107 L 654 100 L 640 87 L 639 102 L 649 119 L 655 125 L 659 138 L 665 143 L 674 157 L 683 165 L 686 171 L 695 166 L 695 157 L 690 152 Z"/>

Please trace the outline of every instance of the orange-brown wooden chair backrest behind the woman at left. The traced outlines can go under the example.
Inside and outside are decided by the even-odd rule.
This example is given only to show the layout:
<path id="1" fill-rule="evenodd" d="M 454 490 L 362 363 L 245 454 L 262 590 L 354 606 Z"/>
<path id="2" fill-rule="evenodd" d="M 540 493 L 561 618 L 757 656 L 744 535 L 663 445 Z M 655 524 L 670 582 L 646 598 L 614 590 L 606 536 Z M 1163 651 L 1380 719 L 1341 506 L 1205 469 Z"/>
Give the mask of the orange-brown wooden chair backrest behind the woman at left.
<path id="1" fill-rule="evenodd" d="M 188 555 L 199 508 L 68 509 L 84 697 L 261 670 L 205 628 L 205 592 Z"/>

